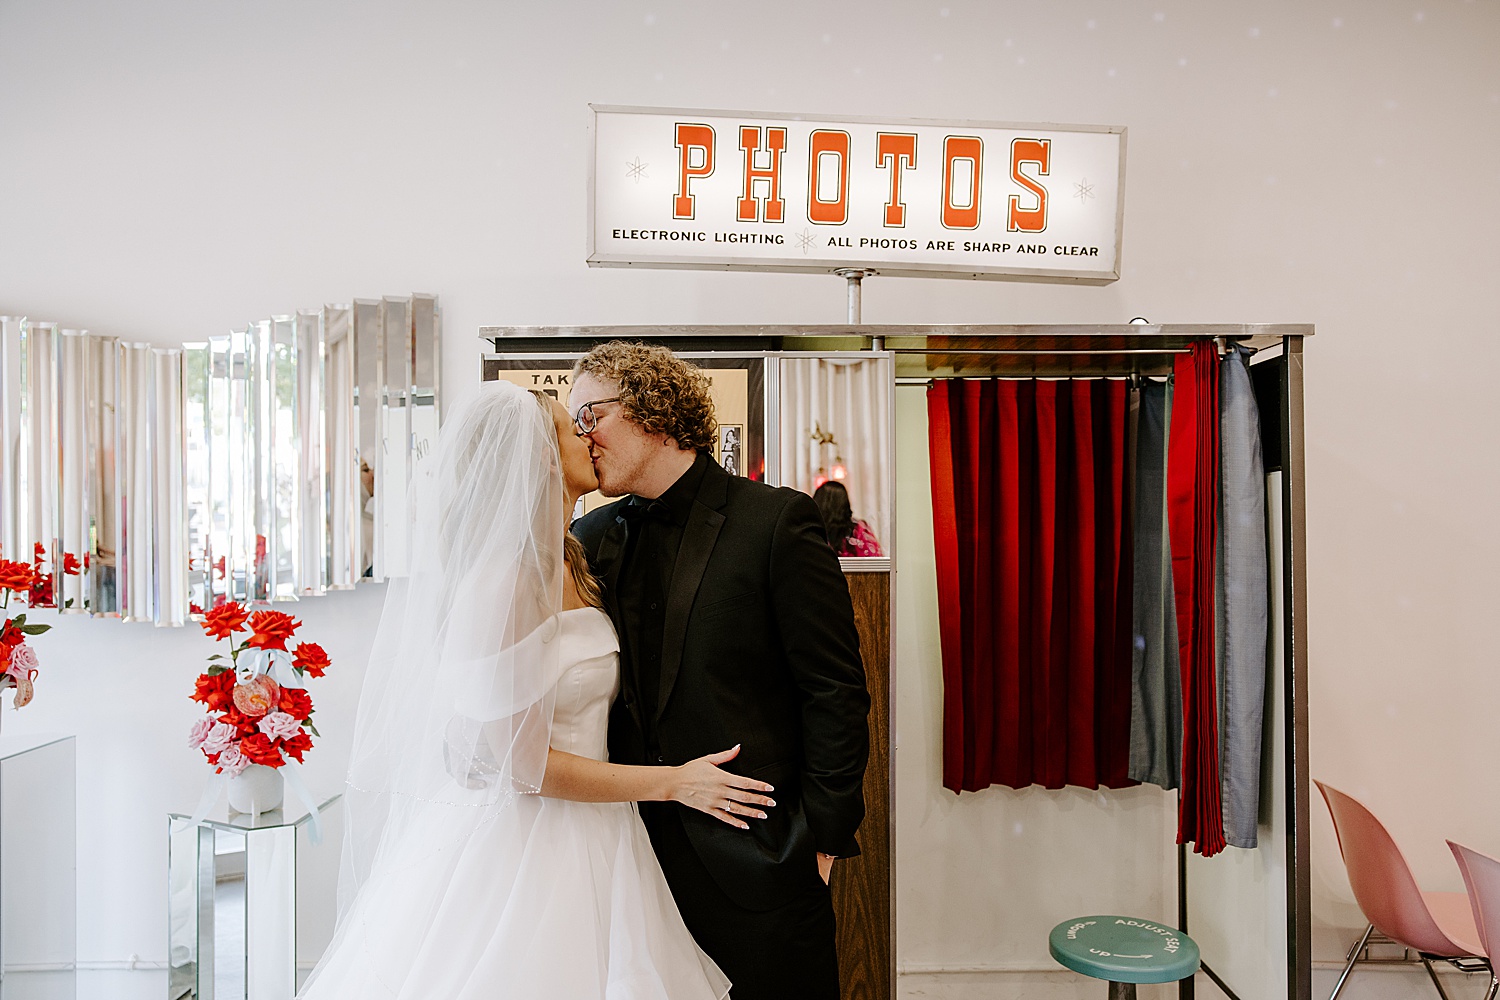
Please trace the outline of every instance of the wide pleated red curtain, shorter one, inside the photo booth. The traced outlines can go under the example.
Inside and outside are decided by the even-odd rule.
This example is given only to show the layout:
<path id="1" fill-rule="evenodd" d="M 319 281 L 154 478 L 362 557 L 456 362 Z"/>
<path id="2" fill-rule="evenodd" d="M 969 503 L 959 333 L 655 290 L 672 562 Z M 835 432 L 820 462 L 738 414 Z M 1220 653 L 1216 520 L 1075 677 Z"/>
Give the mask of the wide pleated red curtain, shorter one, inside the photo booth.
<path id="1" fill-rule="evenodd" d="M 927 411 L 944 784 L 1130 784 L 1125 382 L 942 379 Z"/>

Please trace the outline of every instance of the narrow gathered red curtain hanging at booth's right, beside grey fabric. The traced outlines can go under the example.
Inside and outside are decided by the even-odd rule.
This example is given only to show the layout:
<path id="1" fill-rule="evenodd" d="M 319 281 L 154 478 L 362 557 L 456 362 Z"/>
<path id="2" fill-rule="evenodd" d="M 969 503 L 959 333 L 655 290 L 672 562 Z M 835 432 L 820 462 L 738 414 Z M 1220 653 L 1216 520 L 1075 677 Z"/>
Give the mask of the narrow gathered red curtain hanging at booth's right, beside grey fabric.
<path id="1" fill-rule="evenodd" d="M 1215 535 L 1218 534 L 1218 357 L 1200 340 L 1173 367 L 1167 439 L 1167 534 L 1182 664 L 1182 792 L 1178 843 L 1212 858 L 1224 850 L 1214 679 Z"/>

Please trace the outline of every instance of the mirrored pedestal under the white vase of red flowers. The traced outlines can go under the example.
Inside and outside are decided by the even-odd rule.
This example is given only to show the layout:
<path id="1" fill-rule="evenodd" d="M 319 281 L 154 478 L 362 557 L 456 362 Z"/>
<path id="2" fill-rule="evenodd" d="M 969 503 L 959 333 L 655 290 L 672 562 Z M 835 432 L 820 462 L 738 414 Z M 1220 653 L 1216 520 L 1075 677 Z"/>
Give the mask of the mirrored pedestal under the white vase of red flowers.
<path id="1" fill-rule="evenodd" d="M 168 817 L 168 1000 L 291 1000 L 333 936 L 338 801 L 318 807 L 318 844 L 291 798 Z"/>

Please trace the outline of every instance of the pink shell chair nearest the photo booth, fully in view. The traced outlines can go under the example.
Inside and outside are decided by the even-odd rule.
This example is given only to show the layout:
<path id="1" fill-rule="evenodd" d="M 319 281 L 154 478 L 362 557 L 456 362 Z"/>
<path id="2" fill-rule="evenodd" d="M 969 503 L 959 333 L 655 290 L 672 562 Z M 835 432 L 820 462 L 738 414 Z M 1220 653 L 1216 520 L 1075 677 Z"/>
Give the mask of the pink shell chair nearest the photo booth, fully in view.
<path id="1" fill-rule="evenodd" d="M 1461 892 L 1418 889 L 1410 865 L 1380 820 L 1338 789 L 1330 789 L 1322 781 L 1314 784 L 1323 793 L 1329 813 L 1334 814 L 1334 831 L 1338 834 L 1338 850 L 1348 871 L 1348 885 L 1354 891 L 1354 901 L 1370 921 L 1365 936 L 1348 954 L 1348 964 L 1344 966 L 1329 1000 L 1338 997 L 1344 981 L 1370 943 L 1370 936 L 1376 931 L 1420 955 L 1438 996 L 1448 1000 L 1443 984 L 1437 981 L 1437 972 L 1432 969 L 1434 960 L 1458 960 L 1460 969 L 1468 972 L 1488 966 L 1485 960 L 1478 958 L 1484 949 L 1479 945 L 1479 931 L 1474 928 L 1468 900 Z"/>

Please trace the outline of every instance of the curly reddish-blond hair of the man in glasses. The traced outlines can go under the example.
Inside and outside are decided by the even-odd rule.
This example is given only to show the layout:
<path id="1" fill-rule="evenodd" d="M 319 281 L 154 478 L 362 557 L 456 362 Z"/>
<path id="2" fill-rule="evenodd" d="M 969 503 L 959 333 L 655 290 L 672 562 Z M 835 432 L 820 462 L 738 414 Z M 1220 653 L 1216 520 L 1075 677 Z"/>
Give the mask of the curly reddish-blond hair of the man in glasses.
<path id="1" fill-rule="evenodd" d="M 718 433 L 708 376 L 668 348 L 632 340 L 596 345 L 573 366 L 573 378 L 620 385 L 626 417 L 648 433 L 676 441 L 682 451 L 712 451 Z"/>

